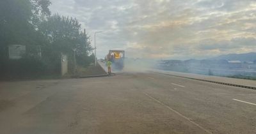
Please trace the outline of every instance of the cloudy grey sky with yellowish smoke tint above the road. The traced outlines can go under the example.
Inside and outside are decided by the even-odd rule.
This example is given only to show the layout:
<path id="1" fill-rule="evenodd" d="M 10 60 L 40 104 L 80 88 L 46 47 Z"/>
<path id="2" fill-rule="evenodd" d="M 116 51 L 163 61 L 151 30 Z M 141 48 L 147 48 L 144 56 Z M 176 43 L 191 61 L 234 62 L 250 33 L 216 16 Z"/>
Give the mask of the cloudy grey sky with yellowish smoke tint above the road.
<path id="1" fill-rule="evenodd" d="M 52 14 L 76 17 L 97 57 L 205 59 L 256 52 L 255 0 L 51 0 Z"/>

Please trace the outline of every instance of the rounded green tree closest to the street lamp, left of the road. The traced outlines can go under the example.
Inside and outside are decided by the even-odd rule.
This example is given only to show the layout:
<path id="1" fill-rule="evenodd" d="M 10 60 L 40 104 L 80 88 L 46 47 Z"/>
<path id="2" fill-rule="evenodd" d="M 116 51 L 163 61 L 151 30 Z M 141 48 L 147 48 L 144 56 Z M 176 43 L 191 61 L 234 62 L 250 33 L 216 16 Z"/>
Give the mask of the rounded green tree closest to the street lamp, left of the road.
<path id="1" fill-rule="evenodd" d="M 92 47 L 89 37 L 81 31 L 81 24 L 77 19 L 55 14 L 40 24 L 39 31 L 49 41 L 49 45 L 45 46 L 48 49 L 45 51 L 47 56 L 55 58 L 60 57 L 61 53 L 67 54 L 69 66 L 72 67 L 74 50 L 76 50 L 77 63 L 84 63 L 84 66 L 88 63 L 86 60 L 90 59 L 88 55 L 92 51 Z M 70 72 L 73 70 L 69 69 Z"/>

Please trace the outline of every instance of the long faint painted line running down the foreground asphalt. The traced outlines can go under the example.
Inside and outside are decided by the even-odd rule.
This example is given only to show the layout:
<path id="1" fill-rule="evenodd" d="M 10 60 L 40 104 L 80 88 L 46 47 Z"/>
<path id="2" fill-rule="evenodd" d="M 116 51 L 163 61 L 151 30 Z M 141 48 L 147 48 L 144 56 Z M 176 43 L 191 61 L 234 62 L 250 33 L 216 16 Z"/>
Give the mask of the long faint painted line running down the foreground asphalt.
<path id="1" fill-rule="evenodd" d="M 149 98 L 151 98 L 152 100 L 156 101 L 157 103 L 159 103 L 159 104 L 163 105 L 164 107 L 168 108 L 168 109 L 171 110 L 172 112 L 175 112 L 176 114 L 180 115 L 180 117 L 183 117 L 184 119 L 188 120 L 190 123 L 195 124 L 195 126 L 198 126 L 198 128 L 204 130 L 204 131 L 207 132 L 207 133 L 211 133 L 211 131 L 206 130 L 204 127 L 200 126 L 200 124 L 197 124 L 197 123 L 195 123 L 194 121 L 191 121 L 188 117 L 186 117 L 186 116 L 180 114 L 179 112 L 177 112 L 177 111 L 174 110 L 173 108 L 169 107 L 168 105 L 165 105 L 163 102 L 157 100 L 156 98 L 150 96 L 150 95 L 147 94 L 147 93 L 144 93 L 144 94 L 145 94 L 146 96 L 148 96 Z"/>

